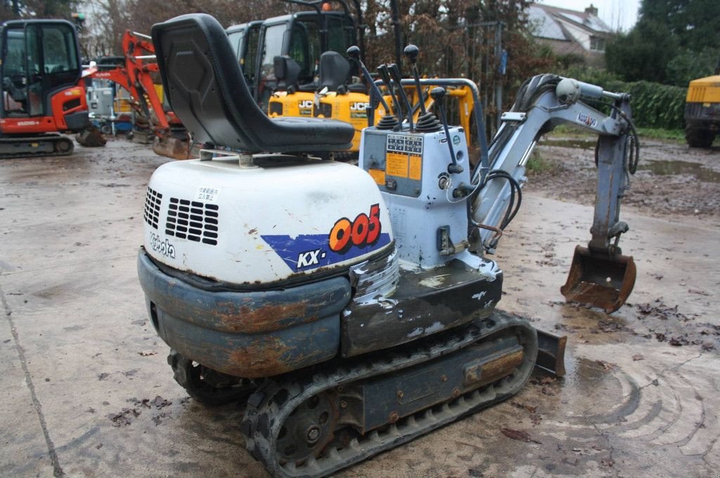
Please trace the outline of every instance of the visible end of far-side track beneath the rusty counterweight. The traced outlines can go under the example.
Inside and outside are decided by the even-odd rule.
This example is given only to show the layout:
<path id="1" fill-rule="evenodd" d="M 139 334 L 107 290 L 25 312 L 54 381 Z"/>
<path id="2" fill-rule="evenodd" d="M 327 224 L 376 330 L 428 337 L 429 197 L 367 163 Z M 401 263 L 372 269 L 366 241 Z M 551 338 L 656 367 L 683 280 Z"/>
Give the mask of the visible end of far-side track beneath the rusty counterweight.
<path id="1" fill-rule="evenodd" d="M 217 372 L 193 362 L 176 350 L 168 355 L 168 364 L 173 369 L 175 381 L 188 395 L 208 406 L 246 400 L 256 389 L 252 380 Z"/>

